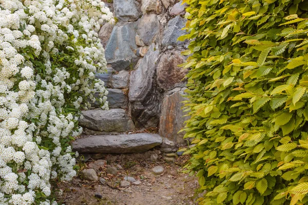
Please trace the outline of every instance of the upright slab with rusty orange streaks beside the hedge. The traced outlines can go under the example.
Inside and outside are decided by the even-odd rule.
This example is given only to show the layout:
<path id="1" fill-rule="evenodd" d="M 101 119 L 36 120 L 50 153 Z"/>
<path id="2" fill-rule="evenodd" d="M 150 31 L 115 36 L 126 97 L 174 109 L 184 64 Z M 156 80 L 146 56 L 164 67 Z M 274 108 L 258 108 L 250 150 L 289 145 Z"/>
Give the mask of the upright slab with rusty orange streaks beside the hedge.
<path id="1" fill-rule="evenodd" d="M 171 141 L 175 141 L 178 144 L 185 143 L 183 139 L 184 132 L 178 133 L 184 127 L 184 121 L 189 119 L 189 116 L 183 117 L 185 113 L 181 109 L 184 100 L 187 100 L 182 95 L 183 89 L 176 92 L 169 92 L 164 97 L 162 102 L 162 111 L 160 117 L 159 134 Z"/>

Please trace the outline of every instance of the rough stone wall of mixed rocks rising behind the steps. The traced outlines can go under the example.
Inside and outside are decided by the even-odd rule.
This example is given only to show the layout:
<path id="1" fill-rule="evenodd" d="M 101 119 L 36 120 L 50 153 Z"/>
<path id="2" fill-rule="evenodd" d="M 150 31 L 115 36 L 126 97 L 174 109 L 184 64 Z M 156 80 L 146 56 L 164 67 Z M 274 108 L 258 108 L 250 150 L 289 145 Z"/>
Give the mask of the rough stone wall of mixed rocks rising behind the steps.
<path id="1" fill-rule="evenodd" d="M 181 110 L 187 70 L 178 67 L 187 47 L 177 41 L 185 34 L 181 3 L 113 0 L 106 5 L 117 24 L 105 24 L 99 32 L 108 71 L 98 77 L 109 89 L 109 107 L 126 110 L 136 128 L 159 127 L 162 137 L 177 143 L 184 142 L 178 131 L 187 119 Z"/>

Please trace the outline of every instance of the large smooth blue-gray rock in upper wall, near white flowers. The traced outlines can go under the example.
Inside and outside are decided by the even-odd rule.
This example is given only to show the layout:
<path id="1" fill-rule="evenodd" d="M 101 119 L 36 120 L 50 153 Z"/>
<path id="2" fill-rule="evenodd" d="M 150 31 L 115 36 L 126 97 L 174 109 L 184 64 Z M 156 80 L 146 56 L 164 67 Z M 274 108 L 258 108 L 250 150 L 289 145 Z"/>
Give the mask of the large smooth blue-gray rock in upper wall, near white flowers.
<path id="1" fill-rule="evenodd" d="M 134 53 L 138 48 L 135 36 L 133 23 L 113 28 L 105 49 L 105 57 L 114 70 L 127 70 L 137 63 L 138 57 Z"/>

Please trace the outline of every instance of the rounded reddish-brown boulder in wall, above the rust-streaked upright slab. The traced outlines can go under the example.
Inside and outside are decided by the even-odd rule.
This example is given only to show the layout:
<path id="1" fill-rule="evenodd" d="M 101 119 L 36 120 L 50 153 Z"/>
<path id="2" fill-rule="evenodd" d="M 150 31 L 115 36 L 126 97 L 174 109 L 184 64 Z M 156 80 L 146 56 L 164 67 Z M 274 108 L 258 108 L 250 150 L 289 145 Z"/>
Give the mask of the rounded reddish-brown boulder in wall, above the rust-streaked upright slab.
<path id="1" fill-rule="evenodd" d="M 184 61 L 185 58 L 181 56 L 181 52 L 178 50 L 168 50 L 161 55 L 157 66 L 157 81 L 162 89 L 171 90 L 185 85 L 183 78 L 187 69 L 178 67 Z"/>

